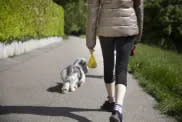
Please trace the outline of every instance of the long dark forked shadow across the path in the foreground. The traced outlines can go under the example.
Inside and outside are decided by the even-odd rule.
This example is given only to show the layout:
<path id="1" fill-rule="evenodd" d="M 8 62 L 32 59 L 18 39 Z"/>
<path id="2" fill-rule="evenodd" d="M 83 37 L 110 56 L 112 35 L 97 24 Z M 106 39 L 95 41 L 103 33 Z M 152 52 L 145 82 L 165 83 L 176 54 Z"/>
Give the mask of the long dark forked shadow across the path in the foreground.
<path id="1" fill-rule="evenodd" d="M 72 107 L 48 107 L 48 106 L 0 106 L 0 115 L 5 114 L 32 114 L 43 116 L 64 116 L 79 122 L 91 122 L 86 117 L 72 112 L 101 111 L 100 109 L 72 108 Z"/>

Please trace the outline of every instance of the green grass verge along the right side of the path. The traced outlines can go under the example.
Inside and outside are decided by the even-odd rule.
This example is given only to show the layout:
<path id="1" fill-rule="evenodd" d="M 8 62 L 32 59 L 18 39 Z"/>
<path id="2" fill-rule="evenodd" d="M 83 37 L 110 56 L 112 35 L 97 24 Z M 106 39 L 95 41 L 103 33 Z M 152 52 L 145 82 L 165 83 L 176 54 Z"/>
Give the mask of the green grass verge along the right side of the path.
<path id="1" fill-rule="evenodd" d="M 129 63 L 145 90 L 159 102 L 164 113 L 182 121 L 182 56 L 146 45 L 137 46 Z"/>

